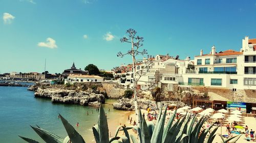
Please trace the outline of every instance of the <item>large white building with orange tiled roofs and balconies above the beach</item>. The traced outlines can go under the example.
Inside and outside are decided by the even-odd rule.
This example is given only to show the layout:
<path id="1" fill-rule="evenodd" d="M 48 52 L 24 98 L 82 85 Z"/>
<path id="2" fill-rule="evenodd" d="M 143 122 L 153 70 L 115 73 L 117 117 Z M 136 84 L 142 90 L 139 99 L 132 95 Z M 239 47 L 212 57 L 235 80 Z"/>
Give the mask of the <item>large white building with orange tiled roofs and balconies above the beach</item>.
<path id="1" fill-rule="evenodd" d="M 245 37 L 240 51 L 216 52 L 195 56 L 195 73 L 183 74 L 183 84 L 236 90 L 256 89 L 256 39 Z"/>

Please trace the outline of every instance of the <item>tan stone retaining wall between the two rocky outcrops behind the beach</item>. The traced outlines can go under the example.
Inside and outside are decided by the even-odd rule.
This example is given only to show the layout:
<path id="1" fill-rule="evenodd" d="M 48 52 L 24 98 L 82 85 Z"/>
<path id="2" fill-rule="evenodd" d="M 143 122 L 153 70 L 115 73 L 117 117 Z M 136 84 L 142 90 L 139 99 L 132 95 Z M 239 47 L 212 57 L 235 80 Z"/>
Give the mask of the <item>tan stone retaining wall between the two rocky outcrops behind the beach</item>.
<path id="1" fill-rule="evenodd" d="M 115 82 L 102 82 L 102 87 L 105 89 L 108 97 L 112 99 L 119 99 L 125 91 L 121 85 Z"/>

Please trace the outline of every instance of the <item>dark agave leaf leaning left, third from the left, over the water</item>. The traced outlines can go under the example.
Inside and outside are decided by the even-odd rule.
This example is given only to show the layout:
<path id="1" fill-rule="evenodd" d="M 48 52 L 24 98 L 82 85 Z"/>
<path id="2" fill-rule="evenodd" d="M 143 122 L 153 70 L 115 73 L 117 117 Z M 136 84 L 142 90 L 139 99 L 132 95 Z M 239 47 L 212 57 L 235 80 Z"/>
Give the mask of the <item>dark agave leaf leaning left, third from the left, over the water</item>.
<path id="1" fill-rule="evenodd" d="M 69 135 L 71 142 L 79 142 L 79 143 L 86 142 L 83 140 L 82 136 L 75 130 L 75 128 L 72 125 L 69 124 L 69 122 L 65 118 L 63 118 L 60 114 L 59 114 L 59 117 Z"/>

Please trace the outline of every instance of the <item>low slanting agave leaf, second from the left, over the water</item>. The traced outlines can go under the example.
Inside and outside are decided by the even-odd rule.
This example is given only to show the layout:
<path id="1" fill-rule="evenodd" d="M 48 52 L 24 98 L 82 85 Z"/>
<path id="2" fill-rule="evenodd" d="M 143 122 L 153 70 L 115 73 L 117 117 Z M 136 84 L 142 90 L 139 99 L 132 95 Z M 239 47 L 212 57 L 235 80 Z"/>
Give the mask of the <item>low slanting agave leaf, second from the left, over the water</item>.
<path id="1" fill-rule="evenodd" d="M 37 127 L 33 127 L 31 126 L 31 128 L 46 142 L 52 142 L 52 143 L 62 143 L 63 139 L 60 138 L 59 136 L 55 135 L 54 133 L 51 133 L 47 130 L 41 129 L 41 128 L 37 128 Z"/>

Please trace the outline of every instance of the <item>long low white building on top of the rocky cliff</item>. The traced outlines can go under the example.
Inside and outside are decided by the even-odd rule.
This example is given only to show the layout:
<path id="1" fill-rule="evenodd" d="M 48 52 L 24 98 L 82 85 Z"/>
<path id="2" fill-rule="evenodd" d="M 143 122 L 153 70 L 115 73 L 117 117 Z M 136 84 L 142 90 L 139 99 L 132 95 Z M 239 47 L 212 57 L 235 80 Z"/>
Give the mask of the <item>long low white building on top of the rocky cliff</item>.
<path id="1" fill-rule="evenodd" d="M 71 74 L 65 79 L 66 83 L 75 83 L 75 82 L 102 82 L 103 77 L 98 75 L 82 75 L 82 74 Z"/>

